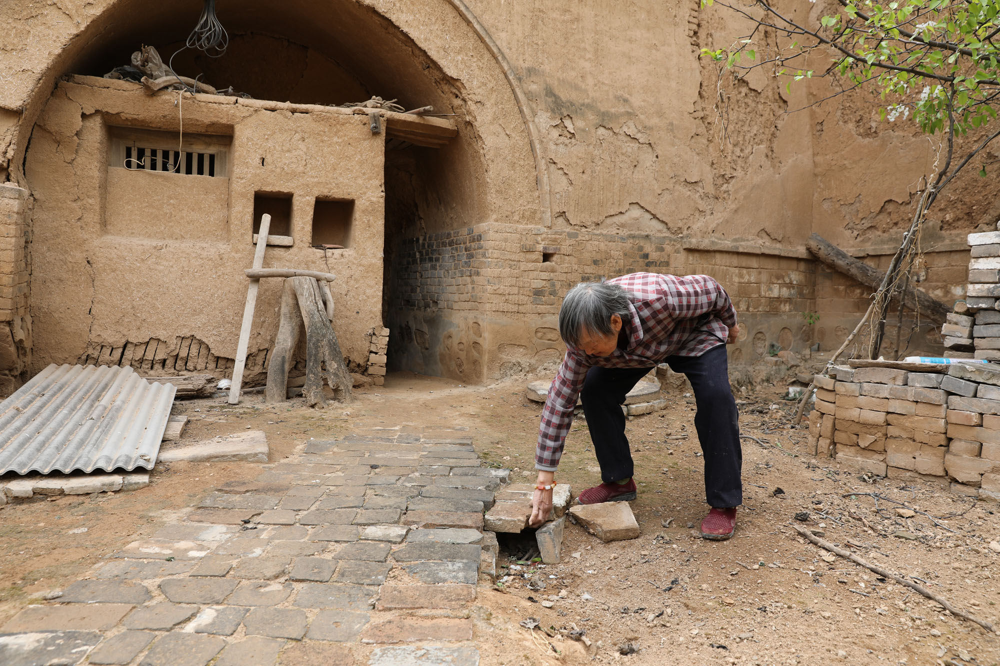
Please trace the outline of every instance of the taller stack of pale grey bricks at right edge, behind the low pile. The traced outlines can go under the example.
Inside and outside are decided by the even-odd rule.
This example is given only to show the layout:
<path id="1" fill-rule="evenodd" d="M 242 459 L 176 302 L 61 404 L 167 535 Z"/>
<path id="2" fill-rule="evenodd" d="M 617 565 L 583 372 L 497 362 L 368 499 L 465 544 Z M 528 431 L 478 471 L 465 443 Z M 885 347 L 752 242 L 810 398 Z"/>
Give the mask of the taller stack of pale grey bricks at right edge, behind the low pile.
<path id="1" fill-rule="evenodd" d="M 965 302 L 958 306 L 962 312 L 949 314 L 941 327 L 946 355 L 1000 361 L 1000 231 L 969 234 L 969 245 L 969 284 Z"/>

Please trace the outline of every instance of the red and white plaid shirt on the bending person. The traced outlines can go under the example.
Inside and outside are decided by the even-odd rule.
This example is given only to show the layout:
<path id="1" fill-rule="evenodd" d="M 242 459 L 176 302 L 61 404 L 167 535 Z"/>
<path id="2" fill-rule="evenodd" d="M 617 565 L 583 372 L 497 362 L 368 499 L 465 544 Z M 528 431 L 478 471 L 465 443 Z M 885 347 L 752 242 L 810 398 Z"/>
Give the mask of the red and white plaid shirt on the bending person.
<path id="1" fill-rule="evenodd" d="M 566 350 L 538 428 L 537 469 L 554 471 L 559 465 L 573 408 L 592 366 L 649 368 L 668 356 L 701 356 L 725 344 L 729 329 L 736 325 L 729 295 L 707 275 L 632 273 L 608 282 L 629 292 L 632 316 L 622 318 L 628 344 L 610 356 L 590 356 L 575 347 Z"/>

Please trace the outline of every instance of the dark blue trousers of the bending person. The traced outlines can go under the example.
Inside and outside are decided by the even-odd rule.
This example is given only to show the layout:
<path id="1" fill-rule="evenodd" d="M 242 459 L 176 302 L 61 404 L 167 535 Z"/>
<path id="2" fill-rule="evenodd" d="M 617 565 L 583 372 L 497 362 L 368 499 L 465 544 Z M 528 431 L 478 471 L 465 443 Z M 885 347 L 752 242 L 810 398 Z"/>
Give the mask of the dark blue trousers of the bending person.
<path id="1" fill-rule="evenodd" d="M 740 470 L 739 413 L 729 388 L 726 346 L 709 349 L 701 356 L 669 356 L 665 362 L 674 372 L 687 375 L 694 389 L 698 411 L 694 427 L 705 460 L 705 498 L 715 508 L 743 503 Z M 587 417 L 594 453 L 605 483 L 633 474 L 632 452 L 625 437 L 625 395 L 649 372 L 649 368 L 592 367 L 580 394 Z M 670 409 L 670 405 L 667 406 Z"/>

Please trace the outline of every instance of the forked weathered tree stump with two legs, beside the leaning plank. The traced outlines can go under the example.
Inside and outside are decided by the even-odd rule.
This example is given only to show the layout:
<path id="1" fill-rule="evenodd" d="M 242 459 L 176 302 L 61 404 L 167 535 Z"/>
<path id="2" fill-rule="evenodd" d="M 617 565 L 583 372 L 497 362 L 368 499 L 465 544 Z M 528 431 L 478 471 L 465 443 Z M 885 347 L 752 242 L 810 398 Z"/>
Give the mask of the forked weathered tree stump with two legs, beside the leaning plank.
<path id="1" fill-rule="evenodd" d="M 285 280 L 281 291 L 278 334 L 267 368 L 267 402 L 284 402 L 287 399 L 288 368 L 303 322 L 306 327 L 306 383 L 302 395 L 310 406 L 325 407 L 325 379 L 333 389 L 334 400 L 350 400 L 351 376 L 344 365 L 344 355 L 328 315 L 332 308 L 328 309 L 327 303 L 332 304 L 332 299 L 325 296 L 314 278 L 293 277 Z"/>

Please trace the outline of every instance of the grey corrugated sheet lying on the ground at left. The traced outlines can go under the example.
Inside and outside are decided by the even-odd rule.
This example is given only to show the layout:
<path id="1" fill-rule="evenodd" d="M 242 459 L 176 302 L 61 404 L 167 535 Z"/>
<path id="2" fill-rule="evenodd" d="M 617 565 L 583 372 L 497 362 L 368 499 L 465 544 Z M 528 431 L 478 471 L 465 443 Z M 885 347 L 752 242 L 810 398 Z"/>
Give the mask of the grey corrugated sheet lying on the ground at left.
<path id="1" fill-rule="evenodd" d="M 0 403 L 0 474 L 152 469 L 176 390 L 132 368 L 52 364 Z"/>

